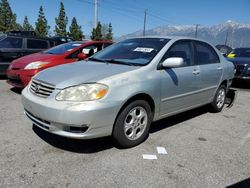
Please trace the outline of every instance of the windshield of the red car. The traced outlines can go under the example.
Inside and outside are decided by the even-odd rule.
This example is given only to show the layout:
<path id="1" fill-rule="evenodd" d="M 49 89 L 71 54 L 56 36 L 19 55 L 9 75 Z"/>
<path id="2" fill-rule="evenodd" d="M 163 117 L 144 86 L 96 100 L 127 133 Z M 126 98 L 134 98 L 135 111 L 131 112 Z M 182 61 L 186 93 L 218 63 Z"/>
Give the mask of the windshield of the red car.
<path id="1" fill-rule="evenodd" d="M 45 54 L 65 54 L 66 52 L 69 52 L 73 50 L 74 48 L 78 48 L 81 46 L 84 42 L 69 42 L 65 44 L 61 44 L 58 46 L 55 46 L 53 48 L 50 48 L 49 50 L 43 51 Z"/>

